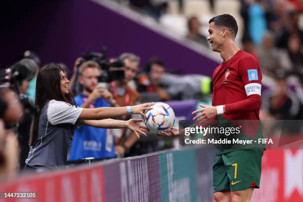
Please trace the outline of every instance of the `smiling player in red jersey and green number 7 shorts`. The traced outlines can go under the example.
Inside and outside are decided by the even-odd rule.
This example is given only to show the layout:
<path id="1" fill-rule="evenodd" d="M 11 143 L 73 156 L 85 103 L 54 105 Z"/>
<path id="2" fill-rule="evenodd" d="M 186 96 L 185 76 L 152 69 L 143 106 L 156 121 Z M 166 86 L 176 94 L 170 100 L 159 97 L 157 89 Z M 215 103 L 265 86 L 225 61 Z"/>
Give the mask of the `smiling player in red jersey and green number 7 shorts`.
<path id="1" fill-rule="evenodd" d="M 235 38 L 238 26 L 229 14 L 209 20 L 208 42 L 223 62 L 213 73 L 212 106 L 201 104 L 194 120 L 259 120 L 262 74 L 256 58 L 240 50 Z M 176 136 L 173 128 L 162 136 Z M 259 188 L 263 150 L 218 150 L 213 165 L 213 202 L 249 202 Z"/>

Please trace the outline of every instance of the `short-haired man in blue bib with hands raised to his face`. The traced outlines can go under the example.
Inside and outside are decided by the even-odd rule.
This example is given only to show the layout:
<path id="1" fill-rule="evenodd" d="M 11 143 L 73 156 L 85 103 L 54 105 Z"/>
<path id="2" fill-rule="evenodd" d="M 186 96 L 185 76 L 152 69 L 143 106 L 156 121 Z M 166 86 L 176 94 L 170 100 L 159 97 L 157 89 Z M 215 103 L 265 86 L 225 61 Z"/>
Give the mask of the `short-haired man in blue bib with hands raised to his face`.
<path id="1" fill-rule="evenodd" d="M 112 94 L 98 86 L 101 67 L 97 62 L 86 61 L 79 67 L 79 83 L 83 91 L 75 97 L 76 105 L 82 108 L 115 106 Z M 86 157 L 96 159 L 115 157 L 113 136 L 105 128 L 83 125 L 74 132 L 69 160 L 81 160 Z"/>

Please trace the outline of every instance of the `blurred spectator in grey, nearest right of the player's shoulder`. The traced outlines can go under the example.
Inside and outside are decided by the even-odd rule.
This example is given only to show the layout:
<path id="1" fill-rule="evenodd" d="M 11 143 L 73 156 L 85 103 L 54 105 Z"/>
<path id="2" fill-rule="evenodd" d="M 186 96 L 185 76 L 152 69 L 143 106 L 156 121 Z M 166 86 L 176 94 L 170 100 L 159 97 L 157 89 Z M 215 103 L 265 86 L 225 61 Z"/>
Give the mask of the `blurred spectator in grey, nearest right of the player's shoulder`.
<path id="1" fill-rule="evenodd" d="M 273 76 L 280 68 L 278 50 L 275 48 L 274 34 L 267 32 L 263 37 L 261 46 L 257 49 L 262 73 Z"/>

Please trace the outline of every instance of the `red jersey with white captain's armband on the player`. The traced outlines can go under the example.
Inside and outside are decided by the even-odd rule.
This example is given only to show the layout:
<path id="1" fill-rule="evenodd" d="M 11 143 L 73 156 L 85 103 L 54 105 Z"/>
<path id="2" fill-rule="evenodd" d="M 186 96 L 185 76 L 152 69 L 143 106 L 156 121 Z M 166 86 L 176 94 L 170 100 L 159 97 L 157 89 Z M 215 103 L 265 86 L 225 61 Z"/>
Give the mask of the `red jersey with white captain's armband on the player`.
<path id="1" fill-rule="evenodd" d="M 225 105 L 228 120 L 259 120 L 261 80 L 257 59 L 239 50 L 213 72 L 212 106 Z"/>

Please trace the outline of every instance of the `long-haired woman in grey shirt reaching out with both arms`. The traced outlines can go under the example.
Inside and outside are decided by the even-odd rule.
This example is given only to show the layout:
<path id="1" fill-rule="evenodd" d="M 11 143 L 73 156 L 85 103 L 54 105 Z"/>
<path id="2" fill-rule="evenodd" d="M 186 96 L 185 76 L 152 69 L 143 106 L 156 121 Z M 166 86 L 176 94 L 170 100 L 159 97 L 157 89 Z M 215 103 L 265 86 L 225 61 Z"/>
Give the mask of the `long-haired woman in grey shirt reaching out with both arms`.
<path id="1" fill-rule="evenodd" d="M 32 150 L 26 159 L 27 169 L 54 169 L 66 164 L 67 150 L 75 125 L 86 124 L 100 128 L 129 128 L 137 135 L 148 129 L 138 124 L 140 119 L 128 121 L 108 119 L 130 113 L 142 114 L 153 103 L 127 107 L 80 108 L 68 91 L 69 80 L 59 65 L 51 64 L 38 73 L 35 105 L 41 111 L 34 116 L 30 138 Z M 103 120 L 100 120 L 103 119 Z"/>

